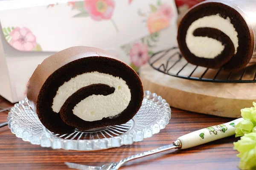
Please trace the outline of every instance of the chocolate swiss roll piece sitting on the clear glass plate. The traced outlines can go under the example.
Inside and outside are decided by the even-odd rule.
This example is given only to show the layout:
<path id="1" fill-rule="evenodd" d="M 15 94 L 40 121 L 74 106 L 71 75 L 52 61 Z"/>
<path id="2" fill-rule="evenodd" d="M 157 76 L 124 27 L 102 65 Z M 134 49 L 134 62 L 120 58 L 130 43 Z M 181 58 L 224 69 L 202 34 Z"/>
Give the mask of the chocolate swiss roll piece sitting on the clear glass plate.
<path id="1" fill-rule="evenodd" d="M 71 133 L 128 122 L 140 109 L 143 86 L 124 62 L 93 47 L 71 47 L 44 59 L 27 98 L 42 124 Z"/>

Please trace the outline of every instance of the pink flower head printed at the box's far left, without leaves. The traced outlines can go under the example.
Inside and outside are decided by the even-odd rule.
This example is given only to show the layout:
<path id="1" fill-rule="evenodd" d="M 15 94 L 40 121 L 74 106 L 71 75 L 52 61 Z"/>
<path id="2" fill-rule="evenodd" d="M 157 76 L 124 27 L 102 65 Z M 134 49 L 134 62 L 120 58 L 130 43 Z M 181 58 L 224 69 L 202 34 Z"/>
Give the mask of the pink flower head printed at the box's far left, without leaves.
<path id="1" fill-rule="evenodd" d="M 35 35 L 28 28 L 16 27 L 10 33 L 10 37 L 10 45 L 20 51 L 32 51 L 37 45 Z"/>

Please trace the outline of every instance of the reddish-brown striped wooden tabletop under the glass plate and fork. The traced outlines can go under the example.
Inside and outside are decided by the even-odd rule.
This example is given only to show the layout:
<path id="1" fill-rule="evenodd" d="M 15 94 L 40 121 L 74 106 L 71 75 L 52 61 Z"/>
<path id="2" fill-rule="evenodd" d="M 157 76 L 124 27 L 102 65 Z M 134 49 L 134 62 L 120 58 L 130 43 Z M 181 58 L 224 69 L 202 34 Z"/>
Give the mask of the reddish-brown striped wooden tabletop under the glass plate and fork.
<path id="1" fill-rule="evenodd" d="M 0 108 L 12 106 L 0 97 Z M 0 123 L 7 112 L 0 113 Z M 229 122 L 232 119 L 190 113 L 172 108 L 172 119 L 166 128 L 143 142 L 101 151 L 52 150 L 24 142 L 6 127 L 0 128 L 0 170 L 64 170 L 64 162 L 102 165 L 118 161 L 146 150 L 170 144 L 179 136 L 204 127 Z M 121 170 L 238 170 L 239 158 L 233 150 L 238 138 L 228 137 L 187 150 L 167 150 L 127 162 Z"/>

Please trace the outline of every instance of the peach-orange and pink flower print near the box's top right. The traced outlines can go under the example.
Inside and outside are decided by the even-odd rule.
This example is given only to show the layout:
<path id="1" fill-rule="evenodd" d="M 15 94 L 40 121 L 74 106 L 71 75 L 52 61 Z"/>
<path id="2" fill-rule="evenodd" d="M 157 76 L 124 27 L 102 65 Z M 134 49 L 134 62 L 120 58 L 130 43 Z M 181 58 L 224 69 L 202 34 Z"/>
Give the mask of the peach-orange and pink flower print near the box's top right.
<path id="1" fill-rule="evenodd" d="M 151 4 L 150 9 L 151 12 L 148 16 L 141 10 L 138 11 L 141 17 L 146 17 L 144 21 L 146 21 L 150 33 L 160 31 L 170 25 L 174 14 L 169 4 L 162 4 L 161 1 L 158 1 L 157 5 Z"/>

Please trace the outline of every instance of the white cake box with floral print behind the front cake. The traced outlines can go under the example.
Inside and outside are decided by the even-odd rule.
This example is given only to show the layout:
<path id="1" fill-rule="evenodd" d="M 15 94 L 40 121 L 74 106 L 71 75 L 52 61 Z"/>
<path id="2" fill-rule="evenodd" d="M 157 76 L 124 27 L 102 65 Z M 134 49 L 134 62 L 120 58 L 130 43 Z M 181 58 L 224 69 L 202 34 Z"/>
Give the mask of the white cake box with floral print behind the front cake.
<path id="1" fill-rule="evenodd" d="M 102 48 L 137 70 L 151 53 L 176 45 L 173 0 L 84 0 L 55 5 L 44 1 L 29 7 L 22 2 L 22 8 L 16 8 L 18 0 L 0 2 L 0 95 L 10 102 L 24 99 L 37 65 L 65 48 Z M 140 58 L 138 51 L 143 53 Z"/>

